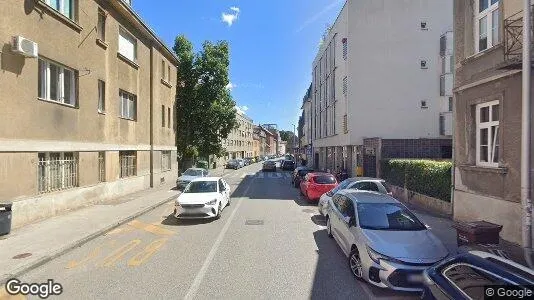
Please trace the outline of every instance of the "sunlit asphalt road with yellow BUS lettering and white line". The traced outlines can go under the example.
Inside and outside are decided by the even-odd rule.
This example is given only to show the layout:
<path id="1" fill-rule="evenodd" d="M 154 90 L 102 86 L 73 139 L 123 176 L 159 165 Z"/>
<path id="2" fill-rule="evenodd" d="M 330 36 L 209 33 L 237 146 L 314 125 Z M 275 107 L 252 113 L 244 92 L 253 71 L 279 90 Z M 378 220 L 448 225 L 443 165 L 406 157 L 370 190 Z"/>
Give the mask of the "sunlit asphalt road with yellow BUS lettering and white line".
<path id="1" fill-rule="evenodd" d="M 20 279 L 54 279 L 64 299 L 418 298 L 356 281 L 290 173 L 260 168 L 225 172 L 219 220 L 177 221 L 169 202 Z"/>

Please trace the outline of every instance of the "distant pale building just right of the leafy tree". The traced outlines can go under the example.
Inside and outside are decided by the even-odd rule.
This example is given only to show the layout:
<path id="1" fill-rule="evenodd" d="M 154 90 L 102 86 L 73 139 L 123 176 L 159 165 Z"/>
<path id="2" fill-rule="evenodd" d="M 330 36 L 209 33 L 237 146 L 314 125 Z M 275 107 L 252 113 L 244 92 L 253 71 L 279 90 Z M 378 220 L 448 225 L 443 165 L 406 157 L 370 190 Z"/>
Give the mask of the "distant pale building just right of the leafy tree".
<path id="1" fill-rule="evenodd" d="M 236 120 L 238 126 L 234 128 L 226 140 L 223 141 L 223 146 L 228 153 L 225 158 L 226 160 L 252 157 L 254 153 L 252 137 L 254 122 L 241 111 L 237 111 Z"/>

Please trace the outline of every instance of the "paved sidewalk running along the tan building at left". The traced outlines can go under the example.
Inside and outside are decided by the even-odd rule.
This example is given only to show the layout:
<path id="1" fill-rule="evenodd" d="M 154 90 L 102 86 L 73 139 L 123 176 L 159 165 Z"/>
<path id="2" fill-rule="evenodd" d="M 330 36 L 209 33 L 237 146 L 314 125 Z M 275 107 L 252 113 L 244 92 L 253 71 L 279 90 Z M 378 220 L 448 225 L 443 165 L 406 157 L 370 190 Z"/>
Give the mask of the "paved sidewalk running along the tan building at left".
<path id="1" fill-rule="evenodd" d="M 0 236 L 0 285 L 174 199 L 174 183 L 118 197 Z M 28 255 L 14 259 L 16 255 Z"/>

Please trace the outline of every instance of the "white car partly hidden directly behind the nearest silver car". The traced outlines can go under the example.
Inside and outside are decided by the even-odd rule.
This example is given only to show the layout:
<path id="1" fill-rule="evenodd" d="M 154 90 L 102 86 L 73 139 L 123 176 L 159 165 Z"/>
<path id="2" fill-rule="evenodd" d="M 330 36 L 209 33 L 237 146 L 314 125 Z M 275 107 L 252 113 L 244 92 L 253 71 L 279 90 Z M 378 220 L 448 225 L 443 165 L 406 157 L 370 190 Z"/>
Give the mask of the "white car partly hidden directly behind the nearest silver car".
<path id="1" fill-rule="evenodd" d="M 354 177 L 343 180 L 338 186 L 328 193 L 324 193 L 317 204 L 319 212 L 324 216 L 326 205 L 332 196 L 339 190 L 356 189 L 362 191 L 375 191 L 382 194 L 391 195 L 386 181 L 371 177 Z"/>

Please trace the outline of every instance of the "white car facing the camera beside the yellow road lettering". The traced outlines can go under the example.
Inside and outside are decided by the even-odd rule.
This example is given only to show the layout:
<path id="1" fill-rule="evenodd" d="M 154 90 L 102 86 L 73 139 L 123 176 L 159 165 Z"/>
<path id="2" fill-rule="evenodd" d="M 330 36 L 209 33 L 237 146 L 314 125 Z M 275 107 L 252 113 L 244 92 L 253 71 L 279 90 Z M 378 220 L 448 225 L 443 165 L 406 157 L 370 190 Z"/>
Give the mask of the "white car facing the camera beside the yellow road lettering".
<path id="1" fill-rule="evenodd" d="M 176 199 L 174 216 L 179 219 L 219 219 L 227 205 L 230 205 L 230 185 L 224 179 L 197 178 Z"/>

